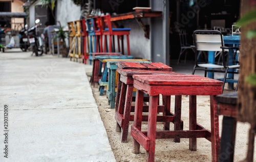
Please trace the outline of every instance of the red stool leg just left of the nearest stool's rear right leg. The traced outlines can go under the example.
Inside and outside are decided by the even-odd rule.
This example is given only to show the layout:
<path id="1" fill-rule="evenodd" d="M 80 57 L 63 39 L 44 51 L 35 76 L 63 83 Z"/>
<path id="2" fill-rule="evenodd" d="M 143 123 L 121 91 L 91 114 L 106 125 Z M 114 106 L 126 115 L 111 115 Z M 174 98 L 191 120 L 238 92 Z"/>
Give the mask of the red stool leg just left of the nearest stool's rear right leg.
<path id="1" fill-rule="evenodd" d="M 174 130 L 181 130 L 181 95 L 175 96 Z M 180 138 L 174 138 L 174 142 L 180 143 Z"/>

